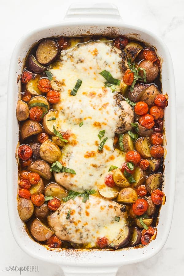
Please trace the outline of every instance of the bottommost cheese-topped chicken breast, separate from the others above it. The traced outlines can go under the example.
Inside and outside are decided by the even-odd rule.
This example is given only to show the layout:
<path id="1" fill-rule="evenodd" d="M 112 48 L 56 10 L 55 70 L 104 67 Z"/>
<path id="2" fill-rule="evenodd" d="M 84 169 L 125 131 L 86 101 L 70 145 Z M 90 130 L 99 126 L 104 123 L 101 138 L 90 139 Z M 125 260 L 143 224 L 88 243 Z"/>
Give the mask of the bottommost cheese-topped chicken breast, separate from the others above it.
<path id="1" fill-rule="evenodd" d="M 90 195 L 82 202 L 82 197 L 75 197 L 48 216 L 48 224 L 60 240 L 91 248 L 101 237 L 106 237 L 109 245 L 127 224 L 127 213 L 125 206 L 114 201 Z"/>

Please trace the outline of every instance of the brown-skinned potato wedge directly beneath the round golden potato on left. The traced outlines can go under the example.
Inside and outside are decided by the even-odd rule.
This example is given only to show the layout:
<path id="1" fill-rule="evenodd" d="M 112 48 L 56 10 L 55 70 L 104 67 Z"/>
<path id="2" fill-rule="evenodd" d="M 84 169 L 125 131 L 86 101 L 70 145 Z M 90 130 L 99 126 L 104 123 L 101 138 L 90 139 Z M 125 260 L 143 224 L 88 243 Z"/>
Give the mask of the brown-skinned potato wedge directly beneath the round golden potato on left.
<path id="1" fill-rule="evenodd" d="M 51 167 L 44 160 L 36 160 L 29 165 L 28 170 L 40 174 L 41 177 L 50 180 L 51 179 Z"/>

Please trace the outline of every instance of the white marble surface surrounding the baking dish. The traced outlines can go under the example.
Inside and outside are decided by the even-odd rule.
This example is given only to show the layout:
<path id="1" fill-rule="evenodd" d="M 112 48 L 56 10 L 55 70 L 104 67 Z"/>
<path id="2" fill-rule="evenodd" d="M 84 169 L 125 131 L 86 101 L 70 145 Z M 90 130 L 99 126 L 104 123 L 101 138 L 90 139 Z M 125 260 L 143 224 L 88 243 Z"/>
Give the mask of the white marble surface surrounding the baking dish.
<path id="1" fill-rule="evenodd" d="M 64 17 L 69 4 L 78 1 L 62 0 L 1 0 L 0 1 L 0 275 L 19 275 L 17 272 L 2 272 L 6 266 L 38 265 L 39 273 L 25 273 L 23 276 L 63 275 L 59 266 L 41 262 L 29 257 L 14 241 L 8 220 L 6 203 L 6 94 L 10 57 L 15 43 L 22 34 L 31 29 L 57 23 Z M 86 1 L 97 2 L 97 1 Z M 100 0 L 99 2 L 107 2 Z M 110 1 L 109 1 L 110 2 Z M 127 265 L 118 270 L 118 276 L 173 276 L 184 275 L 184 1 L 146 0 L 112 1 L 119 8 L 125 23 L 144 27 L 162 37 L 166 42 L 174 64 L 177 95 L 177 178 L 174 217 L 167 243 L 153 258 L 138 264 Z M 16 91 L 12 91 L 16 93 Z M 170 103 L 171 104 L 171 103 Z M 7 126 L 8 127 L 8 126 Z M 8 164 L 7 164 L 8 166 Z M 174 183 L 173 183 L 174 185 Z"/>

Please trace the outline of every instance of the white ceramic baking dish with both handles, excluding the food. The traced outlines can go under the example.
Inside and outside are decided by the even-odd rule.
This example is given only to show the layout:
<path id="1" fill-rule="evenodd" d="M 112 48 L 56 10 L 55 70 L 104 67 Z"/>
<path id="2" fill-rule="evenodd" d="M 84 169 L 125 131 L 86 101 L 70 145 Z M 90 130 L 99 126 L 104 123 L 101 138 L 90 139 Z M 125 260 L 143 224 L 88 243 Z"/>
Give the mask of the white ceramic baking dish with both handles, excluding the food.
<path id="1" fill-rule="evenodd" d="M 24 224 L 17 212 L 17 162 L 15 152 L 18 143 L 18 123 L 16 119 L 16 104 L 20 81 L 17 76 L 22 69 L 29 48 L 44 37 L 66 35 L 126 35 L 133 39 L 143 40 L 154 45 L 162 60 L 163 93 L 169 95 L 169 105 L 165 110 L 165 130 L 167 137 L 165 158 L 166 204 L 162 206 L 158 234 L 155 240 L 142 248 L 130 248 L 117 251 L 110 250 L 53 250 L 36 243 L 25 231 Z M 175 189 L 176 164 L 176 122 L 175 122 L 175 87 L 174 73 L 170 54 L 165 44 L 152 33 L 126 25 L 121 20 L 114 5 L 81 3 L 72 5 L 62 23 L 43 27 L 26 34 L 16 45 L 11 63 L 8 86 L 7 113 L 7 193 L 10 225 L 13 236 L 23 251 L 46 262 L 62 266 L 65 275 L 115 275 L 119 266 L 137 263 L 158 253 L 165 244 L 172 221 Z"/>

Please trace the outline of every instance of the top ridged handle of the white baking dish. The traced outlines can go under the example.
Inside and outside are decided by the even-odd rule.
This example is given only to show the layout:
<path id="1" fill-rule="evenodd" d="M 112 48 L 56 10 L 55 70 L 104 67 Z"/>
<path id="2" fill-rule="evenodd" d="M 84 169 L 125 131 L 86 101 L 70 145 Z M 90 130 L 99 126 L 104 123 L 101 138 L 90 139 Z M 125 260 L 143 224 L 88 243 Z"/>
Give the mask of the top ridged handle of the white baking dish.
<path id="1" fill-rule="evenodd" d="M 122 20 L 117 6 L 110 3 L 73 3 L 69 6 L 65 20 L 98 18 Z"/>

